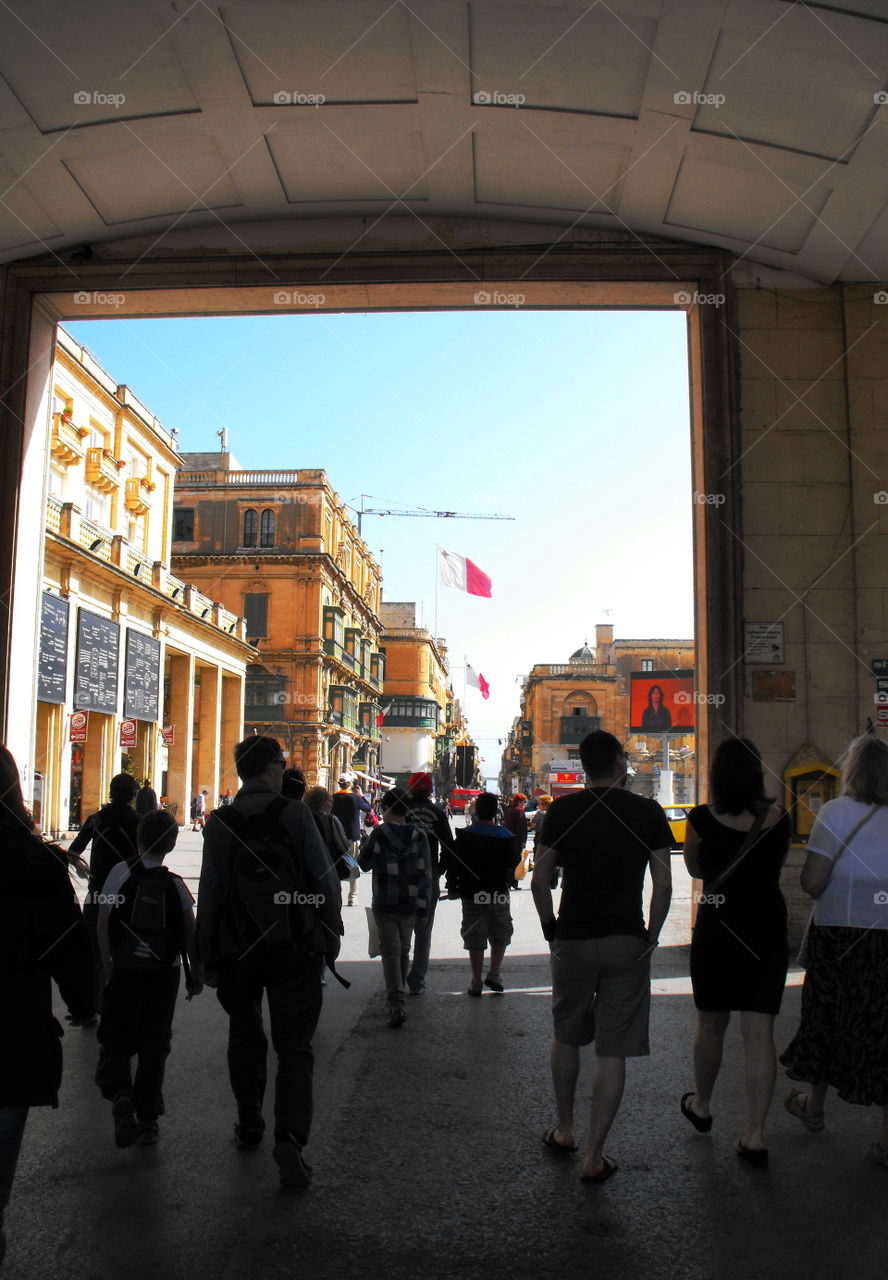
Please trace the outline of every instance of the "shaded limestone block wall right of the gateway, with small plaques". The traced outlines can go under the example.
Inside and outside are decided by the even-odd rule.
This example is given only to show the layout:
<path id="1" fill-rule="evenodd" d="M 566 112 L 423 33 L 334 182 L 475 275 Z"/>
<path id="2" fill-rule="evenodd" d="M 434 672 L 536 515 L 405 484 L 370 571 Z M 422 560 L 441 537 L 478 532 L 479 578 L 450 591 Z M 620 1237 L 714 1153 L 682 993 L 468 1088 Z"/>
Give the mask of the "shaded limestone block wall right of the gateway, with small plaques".
<path id="1" fill-rule="evenodd" d="M 888 658 L 888 292 L 742 289 L 738 317 L 743 618 L 786 631 L 783 663 L 745 664 L 743 730 L 782 799 L 782 771 L 806 739 L 839 762 L 876 718 L 871 662 Z M 810 910 L 802 860 L 798 851 L 784 872 L 795 933 Z"/>

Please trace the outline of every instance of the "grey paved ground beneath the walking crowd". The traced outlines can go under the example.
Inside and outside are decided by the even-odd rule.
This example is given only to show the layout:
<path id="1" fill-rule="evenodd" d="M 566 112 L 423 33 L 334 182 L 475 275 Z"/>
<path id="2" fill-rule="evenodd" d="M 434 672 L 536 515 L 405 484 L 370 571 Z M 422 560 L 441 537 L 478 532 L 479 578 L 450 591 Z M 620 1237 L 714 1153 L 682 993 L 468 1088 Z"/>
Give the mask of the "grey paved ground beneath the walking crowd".
<path id="1" fill-rule="evenodd" d="M 193 878 L 198 837 L 173 865 Z M 464 996 L 458 904 L 441 902 L 427 992 L 399 1032 L 385 1025 L 380 964 L 363 910 L 345 910 L 345 992 L 326 988 L 316 1048 L 308 1193 L 283 1193 L 270 1144 L 238 1152 L 225 1074 L 225 1020 L 212 992 L 177 1011 L 168 1115 L 155 1148 L 118 1151 L 92 1084 L 95 1030 L 65 1034 L 59 1111 L 32 1112 L 13 1192 L 8 1274 L 15 1280 L 514 1280 L 594 1272 L 599 1280 L 807 1280 L 884 1274 L 888 1175 L 864 1160 L 876 1117 L 834 1103 L 806 1134 L 779 1106 L 772 1167 L 733 1153 L 742 1102 L 740 1033 L 728 1034 L 711 1135 L 678 1114 L 691 1087 L 695 1025 L 687 977 L 690 884 L 655 954 L 653 1052 L 628 1068 L 604 1188 L 581 1187 L 576 1158 L 541 1148 L 551 1124 L 548 961 L 531 895 L 513 895 L 507 995 Z M 367 901 L 369 883 L 361 886 Z M 798 975 L 778 1021 L 797 1023 Z M 58 1010 L 63 1012 L 61 1009 Z M 590 1055 L 591 1061 L 591 1055 Z M 580 1083 L 581 1110 L 590 1069 Z M 852 1258 L 850 1258 L 850 1253 Z"/>

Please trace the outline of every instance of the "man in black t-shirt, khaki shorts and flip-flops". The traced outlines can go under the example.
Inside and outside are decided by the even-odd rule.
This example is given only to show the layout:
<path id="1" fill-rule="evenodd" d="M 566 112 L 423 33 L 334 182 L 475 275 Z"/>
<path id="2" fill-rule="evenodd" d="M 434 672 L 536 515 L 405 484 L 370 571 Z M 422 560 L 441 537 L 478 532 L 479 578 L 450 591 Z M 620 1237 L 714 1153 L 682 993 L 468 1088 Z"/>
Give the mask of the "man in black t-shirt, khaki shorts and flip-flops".
<path id="1" fill-rule="evenodd" d="M 592 1106 L 581 1178 L 617 1171 L 604 1142 L 626 1083 L 626 1059 L 649 1053 L 650 954 L 672 897 L 672 832 L 654 800 L 624 791 L 626 754 L 612 733 L 580 744 L 586 790 L 555 800 L 543 824 L 531 888 L 551 947 L 551 1078 L 558 1124 L 543 1138 L 557 1155 L 576 1151 L 573 1097 L 580 1048 L 595 1041 Z M 551 877 L 563 868 L 558 919 Z M 645 872 L 653 892 L 642 914 Z"/>

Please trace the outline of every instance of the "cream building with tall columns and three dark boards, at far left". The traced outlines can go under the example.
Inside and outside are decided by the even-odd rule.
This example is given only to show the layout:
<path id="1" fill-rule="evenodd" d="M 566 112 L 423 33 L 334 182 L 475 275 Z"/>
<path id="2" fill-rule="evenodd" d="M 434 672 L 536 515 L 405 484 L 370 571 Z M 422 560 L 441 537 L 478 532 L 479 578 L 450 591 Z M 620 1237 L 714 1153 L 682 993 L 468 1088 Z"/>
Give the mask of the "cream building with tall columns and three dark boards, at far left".
<path id="1" fill-rule="evenodd" d="M 129 772 L 182 822 L 238 785 L 244 622 L 170 572 L 174 436 L 64 329 L 50 412 L 35 818 L 75 829 Z"/>

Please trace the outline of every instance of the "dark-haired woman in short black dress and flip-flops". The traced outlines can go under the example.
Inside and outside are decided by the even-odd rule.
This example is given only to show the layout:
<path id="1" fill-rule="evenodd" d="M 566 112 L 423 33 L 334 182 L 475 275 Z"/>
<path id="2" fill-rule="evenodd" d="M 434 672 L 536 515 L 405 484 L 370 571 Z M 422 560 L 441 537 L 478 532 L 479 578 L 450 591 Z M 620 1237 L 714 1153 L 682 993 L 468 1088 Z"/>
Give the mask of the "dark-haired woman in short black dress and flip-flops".
<path id="1" fill-rule="evenodd" d="M 713 1126 L 710 1098 L 731 1011 L 740 1010 L 746 1052 L 746 1125 L 737 1155 L 768 1164 L 763 1128 L 777 1076 L 774 1018 L 787 972 L 787 915 L 779 888 L 789 818 L 765 796 L 761 756 L 749 739 L 728 739 L 713 758 L 711 803 L 687 817 L 685 863 L 702 881 L 691 942 L 697 1007 L 696 1092 L 681 1101 L 695 1129 Z M 750 841 L 752 828 L 757 835 Z M 743 847 L 746 844 L 746 849 Z"/>

